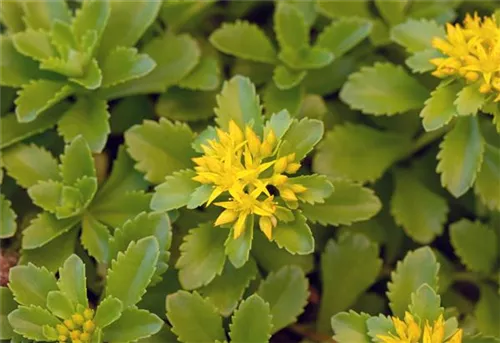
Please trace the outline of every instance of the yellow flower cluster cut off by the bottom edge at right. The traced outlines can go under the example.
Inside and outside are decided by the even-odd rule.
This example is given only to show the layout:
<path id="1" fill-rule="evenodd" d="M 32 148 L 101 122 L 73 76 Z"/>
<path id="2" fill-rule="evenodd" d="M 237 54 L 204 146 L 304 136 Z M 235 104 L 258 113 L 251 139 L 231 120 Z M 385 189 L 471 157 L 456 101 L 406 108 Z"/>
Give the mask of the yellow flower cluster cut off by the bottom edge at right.
<path id="1" fill-rule="evenodd" d="M 392 323 L 396 329 L 396 334 L 377 335 L 383 343 L 461 343 L 463 330 L 456 330 L 451 337 L 445 337 L 444 318 L 441 314 L 431 325 L 428 321 L 423 328 L 417 323 L 413 315 L 405 313 L 404 321 L 392 317 Z M 422 339 L 422 340 L 420 340 Z M 445 341 L 445 339 L 447 339 Z"/>

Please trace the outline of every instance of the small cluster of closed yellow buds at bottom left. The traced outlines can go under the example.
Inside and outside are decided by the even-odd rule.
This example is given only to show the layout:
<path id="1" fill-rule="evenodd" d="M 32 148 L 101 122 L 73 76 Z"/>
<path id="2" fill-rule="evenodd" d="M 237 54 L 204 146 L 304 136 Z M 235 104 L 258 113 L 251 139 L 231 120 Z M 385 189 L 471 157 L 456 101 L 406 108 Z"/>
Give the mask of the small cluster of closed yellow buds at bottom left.
<path id="1" fill-rule="evenodd" d="M 94 311 L 87 308 L 83 313 L 75 313 L 56 326 L 59 334 L 59 343 L 85 343 L 90 342 L 95 330 Z"/>

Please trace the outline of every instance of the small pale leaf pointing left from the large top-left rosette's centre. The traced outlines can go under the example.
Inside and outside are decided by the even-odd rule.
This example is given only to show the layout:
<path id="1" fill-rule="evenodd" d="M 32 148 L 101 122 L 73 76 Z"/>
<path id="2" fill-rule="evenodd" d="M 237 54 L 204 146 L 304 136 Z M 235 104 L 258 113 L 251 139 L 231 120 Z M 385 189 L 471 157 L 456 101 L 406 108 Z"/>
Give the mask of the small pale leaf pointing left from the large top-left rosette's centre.
<path id="1" fill-rule="evenodd" d="M 44 31 L 28 29 L 23 32 L 18 32 L 12 36 L 12 42 L 17 51 L 36 61 L 43 61 L 50 57 L 54 57 L 56 54 L 56 51 L 50 43 L 48 33 Z"/>

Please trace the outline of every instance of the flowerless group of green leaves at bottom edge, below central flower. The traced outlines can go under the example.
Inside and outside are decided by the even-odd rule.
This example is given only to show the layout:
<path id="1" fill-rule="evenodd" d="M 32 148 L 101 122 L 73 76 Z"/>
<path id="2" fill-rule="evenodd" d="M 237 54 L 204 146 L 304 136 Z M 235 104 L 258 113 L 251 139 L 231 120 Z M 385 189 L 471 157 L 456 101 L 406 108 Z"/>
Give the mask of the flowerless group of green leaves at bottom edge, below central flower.
<path id="1" fill-rule="evenodd" d="M 300 268 L 286 266 L 269 274 L 256 293 L 235 301 L 229 332 L 217 306 L 217 297 L 223 296 L 218 293 L 205 297 L 186 291 L 170 294 L 167 318 L 180 342 L 266 343 L 272 334 L 296 320 L 308 295 L 308 282 Z M 197 330 L 192 329 L 193 323 Z"/>

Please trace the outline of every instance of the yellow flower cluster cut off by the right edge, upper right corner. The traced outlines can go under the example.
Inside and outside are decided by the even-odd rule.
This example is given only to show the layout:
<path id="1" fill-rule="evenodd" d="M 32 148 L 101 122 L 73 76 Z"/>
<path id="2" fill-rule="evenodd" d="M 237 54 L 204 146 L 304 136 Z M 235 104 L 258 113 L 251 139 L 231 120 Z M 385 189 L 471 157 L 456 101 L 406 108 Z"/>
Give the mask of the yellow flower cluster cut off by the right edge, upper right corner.
<path id="1" fill-rule="evenodd" d="M 435 37 L 432 45 L 445 57 L 433 58 L 433 75 L 460 76 L 478 82 L 479 91 L 500 101 L 500 27 L 495 17 L 467 15 L 464 24 L 447 24 L 446 39 Z"/>

